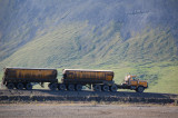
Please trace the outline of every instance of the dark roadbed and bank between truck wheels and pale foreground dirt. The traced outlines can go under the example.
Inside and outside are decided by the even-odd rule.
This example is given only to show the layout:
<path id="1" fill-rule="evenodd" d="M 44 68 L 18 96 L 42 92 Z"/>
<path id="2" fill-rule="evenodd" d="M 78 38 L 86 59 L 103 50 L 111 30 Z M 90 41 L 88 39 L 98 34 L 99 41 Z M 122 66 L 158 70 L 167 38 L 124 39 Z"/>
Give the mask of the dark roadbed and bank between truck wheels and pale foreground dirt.
<path id="1" fill-rule="evenodd" d="M 46 89 L 34 90 L 8 90 L 0 89 L 0 104 L 4 102 L 31 102 L 31 101 L 69 101 L 69 102 L 142 102 L 142 104 L 177 104 L 178 95 L 154 94 L 154 92 L 96 92 L 89 90 L 82 91 L 51 91 Z"/>

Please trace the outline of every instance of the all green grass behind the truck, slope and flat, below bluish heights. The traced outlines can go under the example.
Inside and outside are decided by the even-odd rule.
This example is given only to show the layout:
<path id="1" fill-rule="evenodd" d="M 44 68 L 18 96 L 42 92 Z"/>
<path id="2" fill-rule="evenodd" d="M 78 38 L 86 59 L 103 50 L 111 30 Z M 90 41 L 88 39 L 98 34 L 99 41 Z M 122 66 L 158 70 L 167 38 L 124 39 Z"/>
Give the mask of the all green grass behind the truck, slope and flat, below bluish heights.
<path id="1" fill-rule="evenodd" d="M 88 27 L 91 30 L 85 31 Z M 116 72 L 117 83 L 130 72 L 148 80 L 147 91 L 178 94 L 178 65 L 174 62 L 177 48 L 169 30 L 148 28 L 123 41 L 113 22 L 99 31 L 93 29 L 86 21 L 63 24 L 48 33 L 40 31 L 0 67 L 109 69 Z M 98 35 L 100 31 L 105 33 Z"/>

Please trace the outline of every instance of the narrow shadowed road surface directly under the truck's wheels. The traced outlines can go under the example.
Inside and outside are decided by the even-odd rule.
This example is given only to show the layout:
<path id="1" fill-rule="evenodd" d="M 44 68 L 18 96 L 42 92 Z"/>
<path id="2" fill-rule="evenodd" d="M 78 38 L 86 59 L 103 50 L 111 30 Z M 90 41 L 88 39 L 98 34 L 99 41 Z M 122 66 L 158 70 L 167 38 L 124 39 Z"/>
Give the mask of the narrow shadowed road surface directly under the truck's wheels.
<path id="1" fill-rule="evenodd" d="M 117 92 L 105 92 L 105 91 L 59 91 L 48 89 L 33 89 L 33 90 L 17 90 L 17 89 L 0 89 L 0 96 L 70 96 L 70 97 L 85 97 L 85 96 L 117 96 L 117 97 L 145 97 L 145 98 L 176 98 L 176 94 L 158 94 L 158 92 L 142 92 L 138 94 L 135 91 L 117 91 Z"/>

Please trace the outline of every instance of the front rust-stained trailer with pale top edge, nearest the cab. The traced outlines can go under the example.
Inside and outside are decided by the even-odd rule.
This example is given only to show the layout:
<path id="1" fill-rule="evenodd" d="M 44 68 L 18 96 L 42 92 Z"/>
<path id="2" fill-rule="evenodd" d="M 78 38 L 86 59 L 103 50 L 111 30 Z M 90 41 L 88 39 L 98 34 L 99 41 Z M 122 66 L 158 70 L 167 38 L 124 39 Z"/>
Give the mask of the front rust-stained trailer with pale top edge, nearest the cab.
<path id="1" fill-rule="evenodd" d="M 59 90 L 78 90 L 83 86 L 93 88 L 96 91 L 117 91 L 111 70 L 87 70 L 87 69 L 63 69 Z"/>

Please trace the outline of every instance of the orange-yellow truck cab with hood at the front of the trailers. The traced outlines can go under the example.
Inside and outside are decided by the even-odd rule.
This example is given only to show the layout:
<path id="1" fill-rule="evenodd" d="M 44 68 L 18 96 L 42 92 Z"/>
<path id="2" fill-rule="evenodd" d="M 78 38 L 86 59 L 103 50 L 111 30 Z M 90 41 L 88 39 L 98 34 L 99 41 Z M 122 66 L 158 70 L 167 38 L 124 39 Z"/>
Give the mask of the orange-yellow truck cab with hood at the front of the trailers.
<path id="1" fill-rule="evenodd" d="M 139 80 L 135 75 L 128 75 L 125 77 L 125 82 L 122 86 L 131 90 L 136 90 L 137 92 L 144 92 L 144 90 L 148 88 L 148 82 L 145 80 Z"/>

